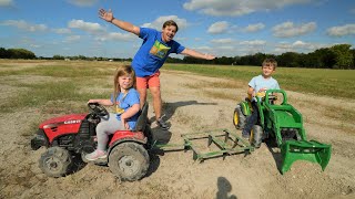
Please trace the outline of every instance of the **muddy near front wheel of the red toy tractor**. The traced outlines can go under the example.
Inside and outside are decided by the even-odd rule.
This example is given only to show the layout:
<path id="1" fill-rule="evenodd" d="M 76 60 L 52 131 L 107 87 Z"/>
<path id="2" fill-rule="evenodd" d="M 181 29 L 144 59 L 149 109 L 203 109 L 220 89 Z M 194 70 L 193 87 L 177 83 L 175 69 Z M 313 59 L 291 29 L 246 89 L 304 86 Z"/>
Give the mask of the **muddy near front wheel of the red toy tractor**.
<path id="1" fill-rule="evenodd" d="M 72 157 L 67 149 L 51 147 L 41 155 L 40 169 L 49 177 L 65 176 L 72 166 Z"/>

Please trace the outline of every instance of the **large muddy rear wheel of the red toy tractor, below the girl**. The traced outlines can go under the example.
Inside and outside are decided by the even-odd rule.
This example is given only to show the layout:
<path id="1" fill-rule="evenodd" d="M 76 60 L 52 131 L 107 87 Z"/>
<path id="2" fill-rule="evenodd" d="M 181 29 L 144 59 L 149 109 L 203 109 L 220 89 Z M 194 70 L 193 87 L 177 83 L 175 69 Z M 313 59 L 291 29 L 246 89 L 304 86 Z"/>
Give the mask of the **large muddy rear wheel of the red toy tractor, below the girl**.
<path id="1" fill-rule="evenodd" d="M 143 145 L 132 142 L 119 144 L 109 155 L 110 170 L 122 181 L 141 179 L 148 171 L 149 161 Z"/>

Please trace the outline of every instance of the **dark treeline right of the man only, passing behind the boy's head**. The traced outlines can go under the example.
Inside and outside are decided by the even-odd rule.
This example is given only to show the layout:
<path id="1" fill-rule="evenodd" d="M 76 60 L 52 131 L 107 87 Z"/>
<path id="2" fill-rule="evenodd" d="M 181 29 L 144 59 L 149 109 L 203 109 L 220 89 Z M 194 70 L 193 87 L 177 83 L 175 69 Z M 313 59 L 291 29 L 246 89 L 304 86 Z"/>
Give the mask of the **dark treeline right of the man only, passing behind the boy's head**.
<path id="1" fill-rule="evenodd" d="M 355 49 L 349 44 L 337 44 L 311 53 L 285 52 L 280 55 L 256 53 L 252 55 L 227 57 L 213 61 L 185 56 L 183 60 L 169 57 L 172 63 L 219 64 L 219 65 L 261 65 L 266 57 L 274 57 L 280 66 L 315 69 L 355 69 Z"/>

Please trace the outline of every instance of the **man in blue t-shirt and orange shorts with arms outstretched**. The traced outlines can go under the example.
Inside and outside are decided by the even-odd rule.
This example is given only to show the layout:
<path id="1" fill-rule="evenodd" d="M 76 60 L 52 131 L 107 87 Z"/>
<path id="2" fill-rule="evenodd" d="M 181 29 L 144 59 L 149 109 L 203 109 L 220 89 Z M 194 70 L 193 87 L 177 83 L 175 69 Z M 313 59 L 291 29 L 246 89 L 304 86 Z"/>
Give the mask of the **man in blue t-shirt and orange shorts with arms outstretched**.
<path id="1" fill-rule="evenodd" d="M 197 59 L 213 60 L 214 55 L 202 54 L 186 49 L 173 40 L 178 32 L 178 24 L 169 20 L 164 22 L 162 32 L 154 29 L 135 27 L 130 22 L 113 18 L 112 11 L 99 10 L 99 17 L 118 28 L 132 32 L 143 39 L 143 43 L 132 61 L 132 67 L 136 73 L 136 90 L 140 93 L 141 105 L 146 101 L 146 88 L 151 91 L 156 124 L 162 129 L 170 126 L 162 119 L 162 98 L 160 92 L 160 71 L 170 53 L 190 55 Z"/>

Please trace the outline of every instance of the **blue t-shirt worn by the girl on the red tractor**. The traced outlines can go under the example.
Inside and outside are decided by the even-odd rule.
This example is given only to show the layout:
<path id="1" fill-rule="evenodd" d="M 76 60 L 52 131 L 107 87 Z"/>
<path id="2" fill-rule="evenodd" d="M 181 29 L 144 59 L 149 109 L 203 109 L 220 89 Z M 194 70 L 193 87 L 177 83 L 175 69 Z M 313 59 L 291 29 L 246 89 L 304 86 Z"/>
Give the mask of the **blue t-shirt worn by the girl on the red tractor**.
<path id="1" fill-rule="evenodd" d="M 113 102 L 113 96 L 111 96 L 111 101 Z M 121 121 L 121 114 L 123 114 L 128 108 L 132 107 L 134 104 L 140 104 L 140 94 L 136 90 L 130 88 L 126 94 L 120 93 L 116 97 L 116 107 L 115 114 L 116 118 Z M 128 119 L 128 124 L 130 125 L 130 129 L 135 127 L 138 117 L 140 116 L 140 112 Z"/>

